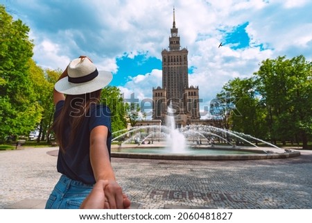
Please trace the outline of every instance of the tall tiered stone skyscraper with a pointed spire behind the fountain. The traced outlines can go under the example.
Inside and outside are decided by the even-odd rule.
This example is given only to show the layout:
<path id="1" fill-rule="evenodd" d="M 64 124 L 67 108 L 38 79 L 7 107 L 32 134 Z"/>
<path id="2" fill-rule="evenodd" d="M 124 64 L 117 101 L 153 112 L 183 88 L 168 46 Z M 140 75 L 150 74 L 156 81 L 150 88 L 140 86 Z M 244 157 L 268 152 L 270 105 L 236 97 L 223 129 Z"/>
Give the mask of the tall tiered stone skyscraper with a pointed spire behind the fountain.
<path id="1" fill-rule="evenodd" d="M 169 47 L 162 51 L 162 88 L 153 88 L 153 119 L 165 122 L 170 103 L 175 111 L 177 126 L 185 126 L 191 124 L 192 120 L 200 119 L 198 86 L 189 87 L 188 53 L 186 48 L 181 49 L 173 8 Z"/>

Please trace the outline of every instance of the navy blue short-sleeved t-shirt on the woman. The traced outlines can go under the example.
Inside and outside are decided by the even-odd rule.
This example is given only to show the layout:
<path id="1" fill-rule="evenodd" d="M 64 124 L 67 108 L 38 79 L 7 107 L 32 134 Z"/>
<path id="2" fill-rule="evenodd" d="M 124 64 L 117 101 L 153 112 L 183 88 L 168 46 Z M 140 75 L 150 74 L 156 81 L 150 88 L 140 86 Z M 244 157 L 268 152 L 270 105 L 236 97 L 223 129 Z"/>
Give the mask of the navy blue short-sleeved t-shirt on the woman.
<path id="1" fill-rule="evenodd" d="M 60 115 L 60 111 L 64 106 L 64 101 L 58 101 L 55 106 L 54 119 Z M 88 115 L 83 119 L 77 135 L 72 144 L 66 147 L 65 153 L 58 152 L 58 172 L 66 175 L 70 179 L 81 181 L 86 184 L 94 184 L 94 173 L 90 162 L 90 132 L 96 126 L 107 126 L 107 149 L 110 154 L 110 146 L 112 141 L 112 128 L 110 121 L 110 108 L 103 105 L 93 105 Z M 63 140 L 69 140 L 71 126 L 68 124 L 63 130 Z M 63 144 L 68 144 L 64 142 Z M 104 161 L 103 161 L 104 162 Z"/>

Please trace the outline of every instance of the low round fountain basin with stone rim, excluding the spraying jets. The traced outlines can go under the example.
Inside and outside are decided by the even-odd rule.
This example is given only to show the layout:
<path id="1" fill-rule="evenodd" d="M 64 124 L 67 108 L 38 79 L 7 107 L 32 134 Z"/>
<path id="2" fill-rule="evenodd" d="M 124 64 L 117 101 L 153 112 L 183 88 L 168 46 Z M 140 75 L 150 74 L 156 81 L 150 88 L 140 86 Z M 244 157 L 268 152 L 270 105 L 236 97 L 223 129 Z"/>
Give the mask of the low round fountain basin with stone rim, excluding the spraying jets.
<path id="1" fill-rule="evenodd" d="M 247 148 L 227 146 L 198 146 L 192 147 L 187 153 L 179 154 L 166 151 L 164 147 L 150 145 L 112 146 L 111 156 L 114 158 L 143 158 L 159 160 L 261 160 L 272 158 L 291 158 L 300 156 L 299 151 L 272 148 Z"/>

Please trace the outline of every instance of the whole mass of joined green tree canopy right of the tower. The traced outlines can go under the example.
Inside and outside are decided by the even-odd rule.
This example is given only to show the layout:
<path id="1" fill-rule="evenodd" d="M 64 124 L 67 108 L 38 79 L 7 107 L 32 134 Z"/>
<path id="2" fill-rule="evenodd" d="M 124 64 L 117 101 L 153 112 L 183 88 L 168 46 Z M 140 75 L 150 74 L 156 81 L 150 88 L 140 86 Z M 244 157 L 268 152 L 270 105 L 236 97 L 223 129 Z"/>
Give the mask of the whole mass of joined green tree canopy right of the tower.
<path id="1" fill-rule="evenodd" d="M 285 144 L 307 142 L 312 136 L 312 63 L 304 56 L 263 60 L 250 79 L 228 81 L 218 97 L 236 97 L 231 128 Z"/>

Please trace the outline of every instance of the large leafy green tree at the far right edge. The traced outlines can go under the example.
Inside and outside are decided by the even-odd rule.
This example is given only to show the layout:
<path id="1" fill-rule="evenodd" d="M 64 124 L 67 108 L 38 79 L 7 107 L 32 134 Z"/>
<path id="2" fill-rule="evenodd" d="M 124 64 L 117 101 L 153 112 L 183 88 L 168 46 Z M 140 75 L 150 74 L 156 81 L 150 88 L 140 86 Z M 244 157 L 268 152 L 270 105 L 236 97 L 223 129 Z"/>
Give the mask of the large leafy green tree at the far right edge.
<path id="1" fill-rule="evenodd" d="M 311 137 L 311 62 L 304 56 L 267 59 L 254 75 L 267 108 L 272 141 L 301 140 L 307 147 Z"/>

